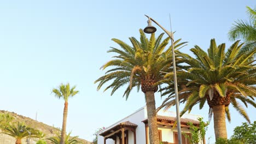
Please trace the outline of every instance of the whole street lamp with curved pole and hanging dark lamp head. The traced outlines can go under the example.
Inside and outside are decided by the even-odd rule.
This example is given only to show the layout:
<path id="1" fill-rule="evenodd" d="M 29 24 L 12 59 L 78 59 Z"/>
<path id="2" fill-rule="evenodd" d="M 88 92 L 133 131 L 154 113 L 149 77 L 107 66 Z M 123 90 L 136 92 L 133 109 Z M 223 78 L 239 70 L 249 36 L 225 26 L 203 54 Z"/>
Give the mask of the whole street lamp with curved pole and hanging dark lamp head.
<path id="1" fill-rule="evenodd" d="M 147 16 L 147 15 L 145 15 Z M 151 17 L 148 17 L 148 26 L 144 28 L 145 33 L 154 33 L 156 28 L 151 25 L 151 21 L 153 21 L 156 25 L 158 25 L 165 33 L 171 38 L 172 43 L 172 64 L 173 64 L 173 79 L 174 79 L 174 92 L 175 92 L 175 100 L 176 100 L 176 119 L 177 119 L 177 127 L 178 127 L 178 140 L 179 144 L 182 144 L 182 135 L 181 135 L 181 119 L 179 117 L 179 97 L 178 97 L 178 86 L 177 86 L 177 76 L 176 76 L 176 62 L 175 62 L 175 53 L 174 53 L 174 39 L 173 33 L 167 31 L 164 27 L 162 27 L 158 22 L 153 20 Z"/>

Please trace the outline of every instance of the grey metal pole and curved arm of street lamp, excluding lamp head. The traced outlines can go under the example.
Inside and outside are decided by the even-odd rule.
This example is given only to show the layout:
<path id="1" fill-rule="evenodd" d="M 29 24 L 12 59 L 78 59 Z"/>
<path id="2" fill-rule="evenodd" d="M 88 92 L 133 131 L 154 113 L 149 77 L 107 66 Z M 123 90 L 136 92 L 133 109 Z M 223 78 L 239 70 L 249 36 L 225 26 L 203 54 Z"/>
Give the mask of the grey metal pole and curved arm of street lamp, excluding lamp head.
<path id="1" fill-rule="evenodd" d="M 147 16 L 147 15 L 145 15 Z M 178 140 L 179 144 L 182 144 L 182 135 L 181 135 L 181 118 L 179 117 L 179 97 L 178 97 L 178 86 L 177 86 L 177 76 L 176 76 L 176 61 L 175 61 L 175 53 L 174 53 L 174 40 L 173 33 L 167 31 L 164 27 L 162 27 L 158 22 L 153 20 L 151 17 L 147 16 L 148 19 L 152 20 L 156 25 L 158 25 L 165 33 L 171 38 L 172 43 L 172 64 L 173 64 L 173 79 L 174 79 L 174 92 L 175 92 L 175 100 L 176 100 L 176 119 L 177 119 L 177 129 L 178 129 Z"/>

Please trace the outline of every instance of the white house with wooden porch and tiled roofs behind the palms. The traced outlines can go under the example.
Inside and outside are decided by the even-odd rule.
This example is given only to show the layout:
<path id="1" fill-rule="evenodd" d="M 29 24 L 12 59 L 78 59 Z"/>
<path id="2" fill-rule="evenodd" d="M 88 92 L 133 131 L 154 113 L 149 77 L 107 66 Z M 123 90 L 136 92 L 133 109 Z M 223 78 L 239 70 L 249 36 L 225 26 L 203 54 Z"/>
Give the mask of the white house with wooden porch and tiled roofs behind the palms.
<path id="1" fill-rule="evenodd" d="M 159 140 L 164 144 L 178 143 L 177 127 L 173 127 L 176 113 L 159 111 L 157 115 Z M 182 134 L 189 135 L 188 122 L 199 124 L 200 116 L 185 114 L 181 118 Z M 182 143 L 189 141 L 182 135 Z M 98 144 L 149 144 L 147 107 L 142 107 L 130 116 L 110 125 L 98 133 Z M 203 143 L 203 142 L 202 142 Z"/>

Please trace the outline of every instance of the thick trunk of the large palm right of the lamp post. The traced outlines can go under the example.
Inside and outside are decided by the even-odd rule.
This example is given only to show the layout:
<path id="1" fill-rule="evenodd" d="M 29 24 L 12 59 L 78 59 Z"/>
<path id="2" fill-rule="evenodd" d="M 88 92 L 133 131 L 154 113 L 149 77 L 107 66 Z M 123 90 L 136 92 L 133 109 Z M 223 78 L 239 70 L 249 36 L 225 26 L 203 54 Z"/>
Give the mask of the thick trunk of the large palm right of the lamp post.
<path id="1" fill-rule="evenodd" d="M 213 106 L 213 120 L 214 120 L 215 139 L 216 140 L 219 138 L 227 139 L 225 105 Z"/>

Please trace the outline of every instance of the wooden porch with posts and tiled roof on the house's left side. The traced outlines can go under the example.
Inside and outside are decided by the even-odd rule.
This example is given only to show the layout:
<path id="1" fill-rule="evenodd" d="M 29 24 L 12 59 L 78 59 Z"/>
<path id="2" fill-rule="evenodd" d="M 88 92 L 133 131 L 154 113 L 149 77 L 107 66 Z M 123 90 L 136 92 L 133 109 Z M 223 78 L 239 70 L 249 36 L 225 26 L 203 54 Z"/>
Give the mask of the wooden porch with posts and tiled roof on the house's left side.
<path id="1" fill-rule="evenodd" d="M 115 144 L 117 144 L 117 137 L 119 137 L 120 144 L 127 144 L 128 143 L 128 131 L 131 130 L 133 132 L 133 143 L 136 144 L 136 128 L 137 124 L 131 123 L 129 121 L 119 123 L 114 127 L 104 131 L 100 135 L 104 137 L 104 144 L 106 144 L 107 139 L 113 139 Z M 126 136 L 126 139 L 125 139 Z"/>

